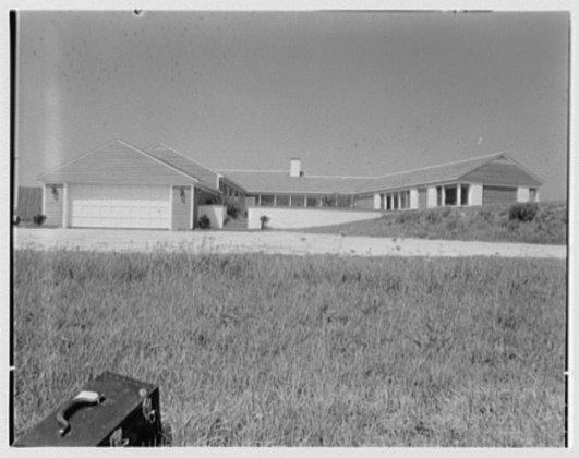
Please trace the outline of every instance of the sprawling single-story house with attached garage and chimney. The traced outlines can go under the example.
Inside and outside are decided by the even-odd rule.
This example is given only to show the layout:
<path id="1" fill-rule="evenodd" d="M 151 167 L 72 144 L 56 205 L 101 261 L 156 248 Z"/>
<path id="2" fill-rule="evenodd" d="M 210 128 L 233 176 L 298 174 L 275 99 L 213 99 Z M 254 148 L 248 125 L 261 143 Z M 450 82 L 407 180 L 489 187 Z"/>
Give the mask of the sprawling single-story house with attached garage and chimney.
<path id="1" fill-rule="evenodd" d="M 108 143 L 39 177 L 47 224 L 186 230 L 201 215 L 221 227 L 222 201 L 237 201 L 248 227 L 303 227 L 375 218 L 383 212 L 538 202 L 542 181 L 504 153 L 378 177 L 289 170 L 212 170 L 173 148 Z M 303 212 L 307 214 L 303 214 Z M 329 212 L 331 210 L 331 213 Z M 219 214 L 221 212 L 221 214 Z M 305 217 L 305 216 L 306 217 Z"/>

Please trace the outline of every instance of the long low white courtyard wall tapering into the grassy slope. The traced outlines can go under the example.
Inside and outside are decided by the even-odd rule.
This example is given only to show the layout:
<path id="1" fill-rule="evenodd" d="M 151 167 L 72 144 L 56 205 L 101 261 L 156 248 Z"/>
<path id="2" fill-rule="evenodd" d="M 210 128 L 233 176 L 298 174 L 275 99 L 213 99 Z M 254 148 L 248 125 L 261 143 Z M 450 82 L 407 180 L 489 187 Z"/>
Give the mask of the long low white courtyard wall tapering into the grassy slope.
<path id="1" fill-rule="evenodd" d="M 261 229 L 260 218 L 263 215 L 269 218 L 267 227 L 272 229 L 299 229 L 379 218 L 382 213 L 325 208 L 250 207 L 248 208 L 248 229 Z"/>

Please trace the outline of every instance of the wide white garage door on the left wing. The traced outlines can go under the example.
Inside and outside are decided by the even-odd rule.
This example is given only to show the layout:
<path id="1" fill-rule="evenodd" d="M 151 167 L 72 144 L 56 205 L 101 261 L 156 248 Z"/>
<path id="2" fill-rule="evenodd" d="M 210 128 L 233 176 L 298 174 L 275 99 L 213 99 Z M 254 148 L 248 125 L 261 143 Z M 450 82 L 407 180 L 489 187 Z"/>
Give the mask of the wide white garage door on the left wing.
<path id="1" fill-rule="evenodd" d="M 170 229 L 169 186 L 71 184 L 71 226 Z"/>

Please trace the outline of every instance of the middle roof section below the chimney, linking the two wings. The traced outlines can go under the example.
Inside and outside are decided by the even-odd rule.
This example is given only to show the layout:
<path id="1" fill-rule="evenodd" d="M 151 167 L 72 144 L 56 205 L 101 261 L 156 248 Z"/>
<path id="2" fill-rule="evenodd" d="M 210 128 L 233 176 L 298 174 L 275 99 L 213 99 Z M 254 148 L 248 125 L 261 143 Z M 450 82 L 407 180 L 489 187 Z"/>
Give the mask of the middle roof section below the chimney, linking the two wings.
<path id="1" fill-rule="evenodd" d="M 304 176 L 292 178 L 289 170 L 220 170 L 249 193 L 353 194 L 367 181 L 360 177 Z"/>

